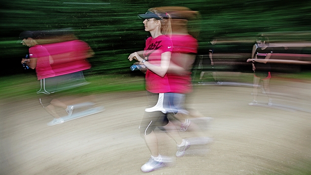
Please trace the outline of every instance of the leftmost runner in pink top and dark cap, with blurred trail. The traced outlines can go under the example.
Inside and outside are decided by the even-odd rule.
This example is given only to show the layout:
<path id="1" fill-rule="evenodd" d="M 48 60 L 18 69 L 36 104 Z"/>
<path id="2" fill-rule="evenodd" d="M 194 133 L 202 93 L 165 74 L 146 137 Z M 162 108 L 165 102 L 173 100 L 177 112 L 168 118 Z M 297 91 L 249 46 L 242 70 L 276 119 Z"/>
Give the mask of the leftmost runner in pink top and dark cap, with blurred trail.
<path id="1" fill-rule="evenodd" d="M 31 69 L 36 69 L 41 87 L 37 91 L 40 104 L 54 117 L 47 125 L 63 123 L 64 120 L 56 112 L 55 106 L 66 110 L 69 116 L 74 107 L 59 101 L 55 92 L 88 84 L 82 70 L 90 68 L 86 58 L 90 57 L 91 49 L 87 44 L 78 40 L 38 44 L 40 39 L 32 31 L 22 32 L 19 38 L 21 40 L 19 43 L 30 47 L 30 58 L 22 59 L 21 63 L 25 63 Z"/>

